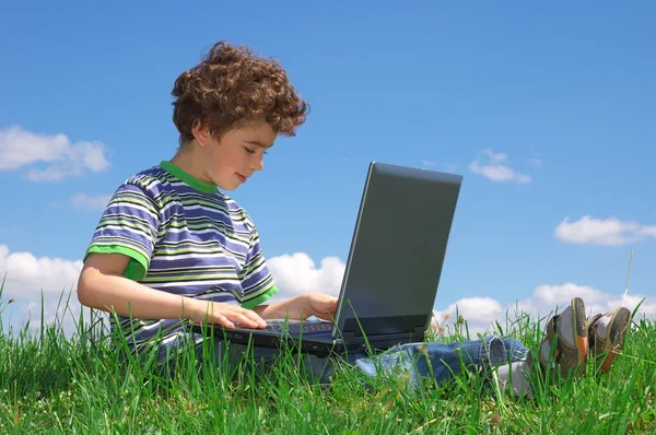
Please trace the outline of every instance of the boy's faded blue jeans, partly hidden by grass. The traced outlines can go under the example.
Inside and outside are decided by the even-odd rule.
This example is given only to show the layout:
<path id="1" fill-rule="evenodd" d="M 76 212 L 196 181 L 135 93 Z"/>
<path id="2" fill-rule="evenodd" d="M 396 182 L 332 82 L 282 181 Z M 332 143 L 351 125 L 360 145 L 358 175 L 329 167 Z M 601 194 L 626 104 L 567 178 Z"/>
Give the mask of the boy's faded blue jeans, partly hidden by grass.
<path id="1" fill-rule="evenodd" d="M 195 334 L 197 357 L 201 358 L 203 352 L 212 352 L 218 364 L 227 362 L 238 364 L 245 355 L 253 358 L 265 369 L 271 368 L 280 356 L 278 349 L 251 349 L 245 345 L 226 343 L 216 339 L 213 349 L 203 345 L 203 338 Z M 160 361 L 167 360 L 167 350 L 178 348 L 183 340 L 169 342 L 166 349 L 160 350 Z M 203 350 L 204 349 L 204 350 Z M 408 343 L 397 345 L 387 351 L 368 355 L 364 352 L 344 355 L 341 362 L 356 367 L 368 378 L 377 376 L 403 376 L 410 387 L 417 386 L 420 378 L 432 376 L 438 385 L 457 376 L 462 368 L 478 369 L 488 373 L 491 368 L 511 364 L 526 358 L 528 350 L 516 339 L 501 336 L 489 336 L 482 340 L 426 343 Z M 295 358 L 292 358 L 296 361 Z M 329 384 L 330 376 L 335 373 L 335 360 L 315 355 L 304 356 L 304 369 L 315 377 L 320 384 Z"/>

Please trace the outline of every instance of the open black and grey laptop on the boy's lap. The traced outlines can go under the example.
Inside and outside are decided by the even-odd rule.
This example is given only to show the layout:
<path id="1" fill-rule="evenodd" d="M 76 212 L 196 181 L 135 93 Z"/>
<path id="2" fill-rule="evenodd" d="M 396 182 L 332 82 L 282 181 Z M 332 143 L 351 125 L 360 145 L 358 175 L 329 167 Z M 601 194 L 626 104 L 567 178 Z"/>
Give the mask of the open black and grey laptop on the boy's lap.
<path id="1" fill-rule="evenodd" d="M 461 184 L 456 174 L 372 162 L 333 321 L 195 328 L 231 342 L 321 355 L 423 341 Z"/>

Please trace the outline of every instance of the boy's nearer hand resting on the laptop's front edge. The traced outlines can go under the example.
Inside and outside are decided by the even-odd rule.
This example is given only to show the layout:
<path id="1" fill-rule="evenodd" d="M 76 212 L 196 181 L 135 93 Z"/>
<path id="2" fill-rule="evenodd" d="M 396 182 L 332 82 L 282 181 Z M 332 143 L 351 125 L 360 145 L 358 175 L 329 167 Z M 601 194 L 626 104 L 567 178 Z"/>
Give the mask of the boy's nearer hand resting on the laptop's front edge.
<path id="1" fill-rule="evenodd" d="M 196 324 L 221 325 L 224 328 L 231 329 L 235 327 L 235 324 L 239 324 L 244 328 L 267 327 L 267 322 L 253 309 L 242 308 L 235 304 L 199 299 L 191 301 L 189 319 Z"/>

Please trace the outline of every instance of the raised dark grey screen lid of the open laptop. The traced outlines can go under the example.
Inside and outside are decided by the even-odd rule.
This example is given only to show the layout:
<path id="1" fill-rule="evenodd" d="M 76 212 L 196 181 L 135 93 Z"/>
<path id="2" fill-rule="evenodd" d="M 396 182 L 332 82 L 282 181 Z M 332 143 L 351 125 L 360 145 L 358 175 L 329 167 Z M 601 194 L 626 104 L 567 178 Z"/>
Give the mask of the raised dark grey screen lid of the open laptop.
<path id="1" fill-rule="evenodd" d="M 362 330 L 367 339 L 423 337 L 461 183 L 460 175 L 372 162 L 340 291 L 335 338 L 361 338 Z"/>

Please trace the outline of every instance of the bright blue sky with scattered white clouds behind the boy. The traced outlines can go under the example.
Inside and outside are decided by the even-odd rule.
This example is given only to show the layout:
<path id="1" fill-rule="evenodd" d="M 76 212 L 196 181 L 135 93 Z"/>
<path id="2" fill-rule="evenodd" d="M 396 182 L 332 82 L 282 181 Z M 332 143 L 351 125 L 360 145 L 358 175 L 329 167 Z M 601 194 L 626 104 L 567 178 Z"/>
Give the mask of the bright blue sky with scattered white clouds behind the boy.
<path id="1" fill-rule="evenodd" d="M 173 82 L 220 39 L 278 58 L 312 107 L 233 193 L 269 258 L 343 263 L 376 160 L 465 177 L 436 310 L 587 291 L 607 307 L 631 249 L 630 293 L 656 297 L 653 2 L 110 3 L 0 7 L 15 321 L 35 286 L 74 284 L 98 201 L 174 155 Z M 306 285 L 335 289 L 338 272 L 307 270 Z"/>

